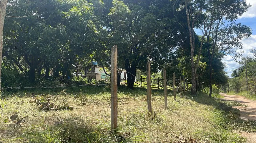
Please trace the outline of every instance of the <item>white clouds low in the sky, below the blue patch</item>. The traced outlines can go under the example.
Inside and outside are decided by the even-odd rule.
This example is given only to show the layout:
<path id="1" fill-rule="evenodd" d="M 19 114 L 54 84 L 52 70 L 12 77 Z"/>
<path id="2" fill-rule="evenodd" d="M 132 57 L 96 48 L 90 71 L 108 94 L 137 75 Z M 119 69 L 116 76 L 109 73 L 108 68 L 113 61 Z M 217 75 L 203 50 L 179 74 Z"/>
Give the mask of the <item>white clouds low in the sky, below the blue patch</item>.
<path id="1" fill-rule="evenodd" d="M 243 44 L 243 57 L 251 57 L 252 53 L 250 49 L 256 49 L 256 35 L 252 35 L 248 39 L 242 39 L 240 41 Z M 225 56 L 222 61 L 226 63 L 225 71 L 228 72 L 228 76 L 231 77 L 232 70 L 240 67 L 240 65 L 235 62 L 230 55 Z M 239 59 L 241 61 L 241 59 Z"/>

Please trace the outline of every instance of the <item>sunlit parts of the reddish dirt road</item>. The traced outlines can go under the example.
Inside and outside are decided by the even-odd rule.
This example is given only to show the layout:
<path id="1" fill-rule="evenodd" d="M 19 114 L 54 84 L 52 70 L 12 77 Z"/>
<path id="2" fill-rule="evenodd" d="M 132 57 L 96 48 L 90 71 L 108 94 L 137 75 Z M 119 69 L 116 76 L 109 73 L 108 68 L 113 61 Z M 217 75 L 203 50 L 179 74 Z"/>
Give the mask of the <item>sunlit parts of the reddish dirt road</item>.
<path id="1" fill-rule="evenodd" d="M 241 111 L 240 118 L 243 120 L 256 120 L 256 101 L 249 100 L 245 97 L 236 95 L 227 95 L 221 93 L 225 100 L 237 101 L 241 104 L 247 105 L 247 107 L 236 106 Z M 240 132 L 243 137 L 247 138 L 248 143 L 256 143 L 256 133 Z"/>

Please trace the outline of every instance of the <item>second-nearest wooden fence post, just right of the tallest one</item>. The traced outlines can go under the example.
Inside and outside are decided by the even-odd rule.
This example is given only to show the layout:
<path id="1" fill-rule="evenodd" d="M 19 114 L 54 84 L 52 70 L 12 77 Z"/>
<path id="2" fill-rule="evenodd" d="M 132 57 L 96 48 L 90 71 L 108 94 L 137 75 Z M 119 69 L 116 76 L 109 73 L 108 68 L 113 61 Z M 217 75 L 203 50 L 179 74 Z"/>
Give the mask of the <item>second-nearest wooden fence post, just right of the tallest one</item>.
<path id="1" fill-rule="evenodd" d="M 152 113 L 151 105 L 151 80 L 150 80 L 150 61 L 147 62 L 147 109 L 149 113 Z"/>

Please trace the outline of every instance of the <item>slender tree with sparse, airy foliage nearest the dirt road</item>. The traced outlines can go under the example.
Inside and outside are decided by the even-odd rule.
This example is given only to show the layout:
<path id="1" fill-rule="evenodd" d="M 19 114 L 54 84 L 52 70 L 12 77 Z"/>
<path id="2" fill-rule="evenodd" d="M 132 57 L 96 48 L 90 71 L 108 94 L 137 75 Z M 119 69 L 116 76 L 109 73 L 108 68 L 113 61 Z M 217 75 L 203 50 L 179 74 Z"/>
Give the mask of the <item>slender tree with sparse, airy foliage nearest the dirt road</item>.
<path id="1" fill-rule="evenodd" d="M 207 0 L 205 3 L 201 29 L 206 35 L 204 40 L 209 58 L 209 98 L 212 96 L 212 60 L 216 53 L 218 51 L 226 54 L 232 53 L 233 58 L 236 59 L 239 53 L 234 52 L 234 49 L 242 49 L 239 40 L 248 38 L 252 34 L 250 27 L 233 22 L 249 7 L 245 0 Z M 225 21 L 231 24 L 227 25 Z"/>

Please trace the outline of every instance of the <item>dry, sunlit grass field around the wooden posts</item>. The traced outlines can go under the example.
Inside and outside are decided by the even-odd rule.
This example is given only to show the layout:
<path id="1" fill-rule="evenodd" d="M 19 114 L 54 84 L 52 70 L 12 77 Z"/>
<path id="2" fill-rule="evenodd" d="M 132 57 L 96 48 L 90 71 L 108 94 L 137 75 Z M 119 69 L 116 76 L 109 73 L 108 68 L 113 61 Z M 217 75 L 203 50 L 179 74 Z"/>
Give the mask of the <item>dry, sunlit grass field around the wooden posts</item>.
<path id="1" fill-rule="evenodd" d="M 109 86 L 4 92 L 0 142 L 242 143 L 245 139 L 234 130 L 253 132 L 256 127 L 238 118 L 239 111 L 231 108 L 238 103 L 205 94 L 174 101 L 168 92 L 164 108 L 163 91 L 152 90 L 152 115 L 146 89 L 119 87 L 118 97 L 119 132 L 114 135 L 109 132 Z"/>

